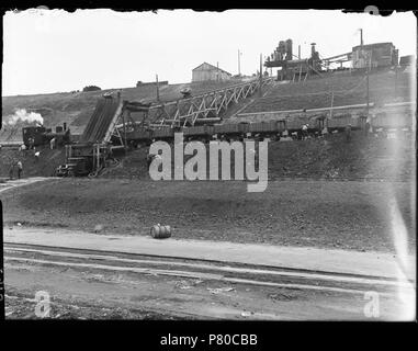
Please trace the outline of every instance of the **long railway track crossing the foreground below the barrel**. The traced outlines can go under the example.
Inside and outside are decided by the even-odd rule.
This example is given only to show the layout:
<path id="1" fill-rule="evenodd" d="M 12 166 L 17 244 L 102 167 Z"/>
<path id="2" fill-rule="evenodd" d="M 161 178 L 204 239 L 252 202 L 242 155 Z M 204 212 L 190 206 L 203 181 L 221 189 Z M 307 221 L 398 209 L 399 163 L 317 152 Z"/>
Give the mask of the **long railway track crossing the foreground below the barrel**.
<path id="1" fill-rule="evenodd" d="M 226 264 L 208 260 L 7 242 L 3 247 L 3 254 L 5 264 L 26 263 L 71 268 L 80 271 L 199 279 L 259 287 L 350 295 L 363 295 L 365 291 L 371 290 L 387 296 L 397 294 L 399 291 L 408 294 L 415 293 L 415 283 L 410 281 L 263 265 Z"/>

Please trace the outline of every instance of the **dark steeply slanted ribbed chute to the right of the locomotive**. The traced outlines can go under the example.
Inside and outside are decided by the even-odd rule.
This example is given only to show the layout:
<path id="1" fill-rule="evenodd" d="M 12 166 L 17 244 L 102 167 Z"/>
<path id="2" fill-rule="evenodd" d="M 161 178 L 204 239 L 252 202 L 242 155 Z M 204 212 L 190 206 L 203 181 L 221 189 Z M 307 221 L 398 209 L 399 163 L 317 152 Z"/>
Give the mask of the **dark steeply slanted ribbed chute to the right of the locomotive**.
<path id="1" fill-rule="evenodd" d="M 118 106 L 118 99 L 113 97 L 100 98 L 93 114 L 81 136 L 80 143 L 101 141 L 106 134 Z"/>

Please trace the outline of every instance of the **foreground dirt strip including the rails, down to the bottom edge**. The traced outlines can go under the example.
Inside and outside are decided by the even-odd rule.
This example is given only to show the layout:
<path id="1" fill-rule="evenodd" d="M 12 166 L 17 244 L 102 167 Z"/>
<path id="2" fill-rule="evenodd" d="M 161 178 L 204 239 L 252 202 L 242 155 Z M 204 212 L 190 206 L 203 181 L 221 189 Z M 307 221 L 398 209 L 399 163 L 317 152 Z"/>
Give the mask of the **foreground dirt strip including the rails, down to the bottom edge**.
<path id="1" fill-rule="evenodd" d="M 391 279 L 205 260 L 15 244 L 4 256 L 7 318 L 397 320 L 399 290 L 411 294 Z"/>

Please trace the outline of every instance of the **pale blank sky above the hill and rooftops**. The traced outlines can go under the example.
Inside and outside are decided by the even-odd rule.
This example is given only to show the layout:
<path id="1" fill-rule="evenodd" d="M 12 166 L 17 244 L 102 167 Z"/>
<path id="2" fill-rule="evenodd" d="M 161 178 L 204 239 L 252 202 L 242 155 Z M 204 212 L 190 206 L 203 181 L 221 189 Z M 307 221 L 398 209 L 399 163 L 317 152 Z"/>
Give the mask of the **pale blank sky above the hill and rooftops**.
<path id="1" fill-rule="evenodd" d="M 399 56 L 416 54 L 411 12 L 388 18 L 340 11 L 190 10 L 114 12 L 110 10 L 27 10 L 3 18 L 2 95 L 65 92 L 95 84 L 102 89 L 135 87 L 158 73 L 170 83 L 190 82 L 192 69 L 207 61 L 252 75 L 259 57 L 279 41 L 293 39 L 302 56 L 317 44 L 320 57 L 364 43 L 393 42 Z"/>

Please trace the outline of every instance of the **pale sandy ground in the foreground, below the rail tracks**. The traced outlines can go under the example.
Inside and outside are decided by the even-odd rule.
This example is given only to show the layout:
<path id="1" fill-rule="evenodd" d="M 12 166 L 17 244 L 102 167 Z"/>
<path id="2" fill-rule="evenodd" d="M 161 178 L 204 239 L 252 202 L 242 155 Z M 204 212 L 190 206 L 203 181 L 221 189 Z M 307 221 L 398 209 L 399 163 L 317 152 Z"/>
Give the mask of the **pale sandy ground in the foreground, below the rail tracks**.
<path id="1" fill-rule="evenodd" d="M 71 265 L 77 258 L 22 254 L 5 251 L 5 316 L 8 319 L 36 319 L 39 299 L 46 292 L 50 309 L 46 318 L 59 319 L 233 319 L 233 320 L 368 320 L 370 290 L 379 295 L 379 316 L 373 319 L 405 318 L 406 305 L 393 293 L 377 286 L 350 291 L 316 291 L 231 283 L 202 274 L 199 278 L 161 275 L 149 271 L 135 273 L 116 270 L 115 264 L 87 258 L 90 267 Z M 10 258 L 24 260 L 10 260 Z M 31 261 L 43 259 L 44 263 Z M 57 265 L 56 261 L 67 265 Z M 110 259 L 111 260 L 111 259 Z M 144 267 L 140 263 L 129 267 Z M 194 272 L 199 274 L 199 272 Z M 213 275 L 213 274 L 212 274 Z M 250 275 L 248 278 L 251 278 Z M 260 279 L 260 278 L 258 278 Z M 282 283 L 291 279 L 282 278 Z M 306 281 L 303 281 L 306 283 Z M 324 282 L 309 284 L 320 287 Z M 328 283 L 325 283 L 330 284 Z M 350 287 L 352 284 L 337 286 Z M 43 293 L 44 294 L 44 293 Z"/>

